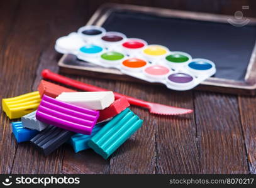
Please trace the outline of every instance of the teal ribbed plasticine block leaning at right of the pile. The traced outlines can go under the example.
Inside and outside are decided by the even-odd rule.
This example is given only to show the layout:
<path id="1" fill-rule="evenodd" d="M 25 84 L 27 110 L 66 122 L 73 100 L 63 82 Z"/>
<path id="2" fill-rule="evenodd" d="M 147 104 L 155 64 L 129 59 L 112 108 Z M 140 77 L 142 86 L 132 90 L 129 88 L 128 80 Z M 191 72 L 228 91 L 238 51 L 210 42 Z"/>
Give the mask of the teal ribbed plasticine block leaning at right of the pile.
<path id="1" fill-rule="evenodd" d="M 142 123 L 143 120 L 126 108 L 101 128 L 88 141 L 88 145 L 104 159 L 108 159 L 138 128 L 142 127 Z"/>

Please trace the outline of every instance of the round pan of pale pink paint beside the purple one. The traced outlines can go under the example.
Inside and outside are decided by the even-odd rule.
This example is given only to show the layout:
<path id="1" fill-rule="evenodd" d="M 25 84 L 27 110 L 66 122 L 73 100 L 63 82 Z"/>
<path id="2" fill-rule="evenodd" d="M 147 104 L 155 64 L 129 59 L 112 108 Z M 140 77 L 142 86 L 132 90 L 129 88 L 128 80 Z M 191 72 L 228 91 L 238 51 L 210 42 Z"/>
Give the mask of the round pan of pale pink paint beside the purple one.
<path id="1" fill-rule="evenodd" d="M 162 65 L 150 65 L 143 70 L 144 75 L 153 80 L 163 80 L 165 76 L 170 73 L 170 70 L 166 66 Z"/>

